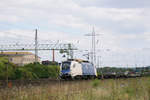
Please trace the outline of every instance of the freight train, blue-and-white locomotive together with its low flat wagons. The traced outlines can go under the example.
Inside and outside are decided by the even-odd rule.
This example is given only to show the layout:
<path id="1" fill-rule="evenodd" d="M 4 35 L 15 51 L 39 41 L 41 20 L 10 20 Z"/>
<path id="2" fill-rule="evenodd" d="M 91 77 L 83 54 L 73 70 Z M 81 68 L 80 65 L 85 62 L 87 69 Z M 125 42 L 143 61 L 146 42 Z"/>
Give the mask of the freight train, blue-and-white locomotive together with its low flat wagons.
<path id="1" fill-rule="evenodd" d="M 139 72 L 105 72 L 97 75 L 96 67 L 89 61 L 81 59 L 69 59 L 60 65 L 61 79 L 103 79 L 103 78 L 131 78 L 141 77 Z"/>

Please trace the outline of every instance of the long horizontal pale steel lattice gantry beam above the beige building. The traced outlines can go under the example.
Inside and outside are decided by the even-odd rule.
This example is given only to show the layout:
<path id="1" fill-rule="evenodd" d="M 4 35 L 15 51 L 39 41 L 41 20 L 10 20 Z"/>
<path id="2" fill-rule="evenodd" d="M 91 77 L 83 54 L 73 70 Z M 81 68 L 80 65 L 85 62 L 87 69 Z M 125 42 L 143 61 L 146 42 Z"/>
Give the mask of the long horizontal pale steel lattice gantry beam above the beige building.
<path id="1" fill-rule="evenodd" d="M 77 48 L 71 44 L 70 50 L 77 50 Z M 37 50 L 68 50 L 69 46 L 68 43 L 58 43 L 58 44 L 40 44 L 38 43 Z M 0 51 L 34 51 L 35 50 L 35 44 L 3 44 L 0 45 Z"/>

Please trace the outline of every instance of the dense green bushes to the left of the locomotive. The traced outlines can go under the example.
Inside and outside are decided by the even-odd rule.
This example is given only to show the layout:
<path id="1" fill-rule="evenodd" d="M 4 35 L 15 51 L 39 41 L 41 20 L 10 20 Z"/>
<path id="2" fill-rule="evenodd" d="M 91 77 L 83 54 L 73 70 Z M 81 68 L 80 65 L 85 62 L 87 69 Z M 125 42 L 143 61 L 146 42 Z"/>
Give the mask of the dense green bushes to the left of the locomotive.
<path id="1" fill-rule="evenodd" d="M 7 69 L 8 68 L 8 69 Z M 39 63 L 27 64 L 25 66 L 16 66 L 6 57 L 0 58 L 0 79 L 39 79 L 39 78 L 58 78 L 59 66 L 57 65 L 42 65 Z"/>

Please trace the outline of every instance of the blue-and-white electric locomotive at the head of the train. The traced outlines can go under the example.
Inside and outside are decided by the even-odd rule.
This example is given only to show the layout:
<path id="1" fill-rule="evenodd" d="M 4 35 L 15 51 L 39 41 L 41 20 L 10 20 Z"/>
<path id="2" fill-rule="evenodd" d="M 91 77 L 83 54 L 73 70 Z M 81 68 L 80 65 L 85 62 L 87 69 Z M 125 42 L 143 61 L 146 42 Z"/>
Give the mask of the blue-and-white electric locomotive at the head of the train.
<path id="1" fill-rule="evenodd" d="M 89 61 L 69 59 L 60 67 L 61 79 L 93 79 L 97 77 L 96 67 Z"/>

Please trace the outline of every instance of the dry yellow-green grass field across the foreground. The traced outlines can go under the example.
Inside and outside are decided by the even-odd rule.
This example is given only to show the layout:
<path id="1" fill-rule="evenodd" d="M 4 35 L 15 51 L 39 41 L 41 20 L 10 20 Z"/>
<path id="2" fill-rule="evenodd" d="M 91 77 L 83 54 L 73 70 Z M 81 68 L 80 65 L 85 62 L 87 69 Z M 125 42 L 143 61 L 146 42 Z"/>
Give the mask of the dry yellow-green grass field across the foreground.
<path id="1" fill-rule="evenodd" d="M 52 82 L 0 89 L 0 100 L 150 100 L 150 78 Z"/>

